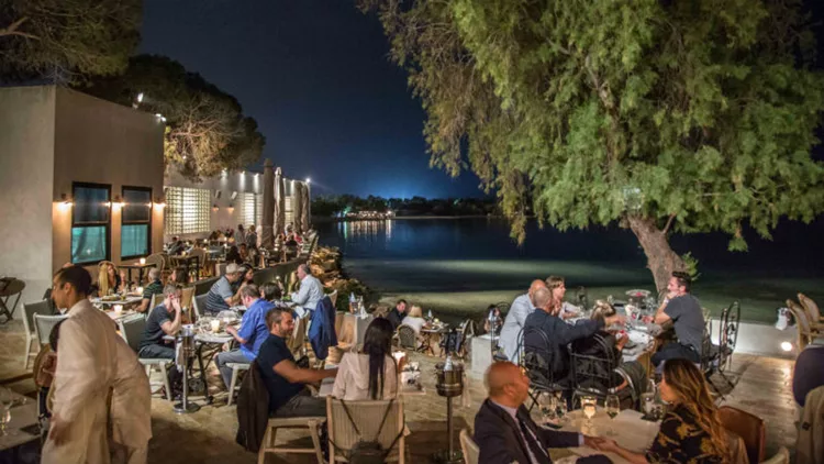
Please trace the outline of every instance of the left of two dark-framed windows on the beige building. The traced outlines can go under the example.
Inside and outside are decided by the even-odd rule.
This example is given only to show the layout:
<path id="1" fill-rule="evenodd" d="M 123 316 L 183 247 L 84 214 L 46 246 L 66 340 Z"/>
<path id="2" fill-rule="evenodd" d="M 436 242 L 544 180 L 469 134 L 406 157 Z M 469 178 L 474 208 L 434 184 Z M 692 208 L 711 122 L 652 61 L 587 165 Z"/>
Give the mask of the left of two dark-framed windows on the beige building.
<path id="1" fill-rule="evenodd" d="M 75 183 L 71 197 L 71 263 L 90 264 L 109 259 L 111 186 Z"/>

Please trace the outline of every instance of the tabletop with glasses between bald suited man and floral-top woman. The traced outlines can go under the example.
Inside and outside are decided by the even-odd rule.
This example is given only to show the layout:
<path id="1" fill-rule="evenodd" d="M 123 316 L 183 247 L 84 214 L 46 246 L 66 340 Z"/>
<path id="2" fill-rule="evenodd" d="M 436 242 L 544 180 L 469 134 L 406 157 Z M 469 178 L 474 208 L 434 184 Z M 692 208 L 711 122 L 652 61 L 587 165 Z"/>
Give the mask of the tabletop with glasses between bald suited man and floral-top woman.
<path id="1" fill-rule="evenodd" d="M 603 408 L 598 408 L 595 417 L 592 418 L 592 424 L 594 429 L 587 429 L 587 418 L 583 416 L 583 411 L 576 410 L 567 415 L 568 419 L 561 430 L 567 432 L 581 432 L 588 435 L 606 437 L 615 440 L 620 445 L 627 450 L 635 452 L 644 452 L 655 440 L 660 428 L 660 422 L 649 422 L 643 420 L 642 413 L 631 409 L 625 409 L 619 413 L 614 420 L 611 420 Z M 614 435 L 610 434 L 610 431 L 614 432 Z M 570 448 L 575 454 L 579 456 L 589 456 L 591 454 L 606 454 L 613 463 L 627 463 L 628 461 L 619 456 L 614 453 L 600 453 L 591 448 Z"/>

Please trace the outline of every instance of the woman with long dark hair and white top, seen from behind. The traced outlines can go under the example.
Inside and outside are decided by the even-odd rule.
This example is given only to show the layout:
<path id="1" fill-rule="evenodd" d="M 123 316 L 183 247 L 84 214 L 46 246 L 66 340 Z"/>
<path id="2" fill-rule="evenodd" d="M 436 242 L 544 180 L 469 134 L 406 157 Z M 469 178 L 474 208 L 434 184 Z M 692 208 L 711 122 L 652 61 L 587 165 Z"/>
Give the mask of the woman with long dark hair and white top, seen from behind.
<path id="1" fill-rule="evenodd" d="M 392 334 L 392 324 L 387 319 L 376 319 L 369 324 L 361 352 L 346 353 L 341 360 L 332 389 L 334 397 L 354 401 L 398 396 Z"/>

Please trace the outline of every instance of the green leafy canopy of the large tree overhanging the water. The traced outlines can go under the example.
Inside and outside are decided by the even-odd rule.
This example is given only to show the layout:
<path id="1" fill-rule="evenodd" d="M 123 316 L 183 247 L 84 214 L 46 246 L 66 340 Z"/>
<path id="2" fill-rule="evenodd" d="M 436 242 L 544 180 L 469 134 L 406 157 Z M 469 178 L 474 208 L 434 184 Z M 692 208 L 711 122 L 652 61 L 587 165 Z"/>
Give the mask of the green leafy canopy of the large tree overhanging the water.
<path id="1" fill-rule="evenodd" d="M 495 189 L 512 234 L 617 222 L 658 289 L 668 234 L 824 208 L 824 78 L 797 0 L 363 0 L 426 110 L 432 165 Z"/>

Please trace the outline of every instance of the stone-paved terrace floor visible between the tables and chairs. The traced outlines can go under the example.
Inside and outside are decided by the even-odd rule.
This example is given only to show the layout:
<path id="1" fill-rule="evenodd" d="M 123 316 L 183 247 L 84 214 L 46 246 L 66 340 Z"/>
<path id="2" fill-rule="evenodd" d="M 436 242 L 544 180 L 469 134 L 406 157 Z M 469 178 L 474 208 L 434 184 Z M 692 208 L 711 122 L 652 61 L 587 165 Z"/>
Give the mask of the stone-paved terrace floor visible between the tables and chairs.
<path id="1" fill-rule="evenodd" d="M 23 369 L 22 323 L 13 321 L 0 325 L 0 384 L 22 394 L 32 395 L 34 385 L 31 373 Z M 431 462 L 436 450 L 447 446 L 446 400 L 435 391 L 432 374 L 434 357 L 411 355 L 423 371 L 425 396 L 408 397 L 404 400 L 407 423 L 412 434 L 407 441 L 408 462 Z M 30 366 L 31 368 L 31 366 Z M 722 405 L 730 405 L 767 421 L 767 454 L 772 455 L 779 446 L 792 449 L 795 442 L 793 426 L 793 399 L 790 390 L 792 361 L 754 355 L 735 355 L 732 365 L 735 388 L 725 395 Z M 212 367 L 208 382 L 212 391 L 219 390 L 221 380 Z M 713 378 L 723 385 L 719 376 Z M 456 446 L 457 431 L 470 427 L 486 393 L 480 379 L 470 379 L 467 404 L 454 400 Z M 247 453 L 234 442 L 237 430 L 236 408 L 225 406 L 225 394 L 219 394 L 213 405 L 205 405 L 200 397 L 200 411 L 192 415 L 176 415 L 171 405 L 155 397 L 152 401 L 154 438 L 149 443 L 149 462 L 153 463 L 255 463 L 257 456 Z M 304 441 L 297 433 L 286 432 L 287 441 Z M 305 456 L 270 457 L 268 463 L 310 463 Z"/>

